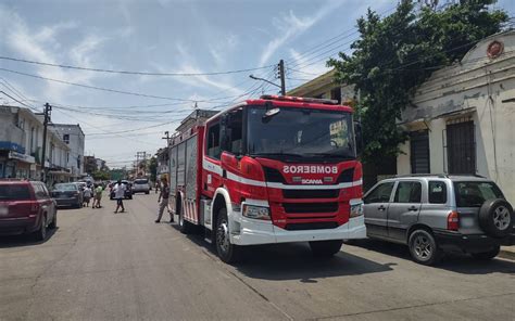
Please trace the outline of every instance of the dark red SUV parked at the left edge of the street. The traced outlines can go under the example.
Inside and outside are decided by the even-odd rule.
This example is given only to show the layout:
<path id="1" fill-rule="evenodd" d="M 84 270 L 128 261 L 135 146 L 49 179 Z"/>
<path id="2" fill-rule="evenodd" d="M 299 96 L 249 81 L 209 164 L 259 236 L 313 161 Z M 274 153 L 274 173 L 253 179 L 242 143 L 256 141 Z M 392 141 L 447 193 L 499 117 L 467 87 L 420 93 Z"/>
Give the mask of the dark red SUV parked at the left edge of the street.
<path id="1" fill-rule="evenodd" d="M 47 239 L 58 224 L 55 201 L 41 182 L 0 180 L 0 234 L 29 234 Z"/>

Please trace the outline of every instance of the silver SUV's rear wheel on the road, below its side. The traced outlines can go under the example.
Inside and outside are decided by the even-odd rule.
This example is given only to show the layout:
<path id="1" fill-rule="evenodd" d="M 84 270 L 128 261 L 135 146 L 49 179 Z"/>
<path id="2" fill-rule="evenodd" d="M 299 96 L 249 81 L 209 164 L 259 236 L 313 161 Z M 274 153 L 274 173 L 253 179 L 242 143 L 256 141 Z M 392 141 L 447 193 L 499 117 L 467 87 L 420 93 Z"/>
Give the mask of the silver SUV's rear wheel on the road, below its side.
<path id="1" fill-rule="evenodd" d="M 407 245 L 413 260 L 417 264 L 431 266 L 442 257 L 442 252 L 438 248 L 435 237 L 426 230 L 415 230 L 410 235 Z"/>

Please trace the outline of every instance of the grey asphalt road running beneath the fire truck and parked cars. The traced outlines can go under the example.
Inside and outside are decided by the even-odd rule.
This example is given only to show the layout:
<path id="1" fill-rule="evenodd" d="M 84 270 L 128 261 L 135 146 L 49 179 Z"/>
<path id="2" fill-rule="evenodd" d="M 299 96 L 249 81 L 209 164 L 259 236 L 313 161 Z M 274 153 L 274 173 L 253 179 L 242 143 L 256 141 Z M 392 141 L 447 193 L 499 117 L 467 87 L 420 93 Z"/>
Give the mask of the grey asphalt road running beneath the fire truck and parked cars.
<path id="1" fill-rule="evenodd" d="M 156 195 L 125 204 L 60 209 L 45 243 L 0 237 L 0 320 L 515 319 L 515 261 L 424 267 L 364 241 L 325 261 L 305 244 L 256 246 L 233 267 L 154 223 Z"/>

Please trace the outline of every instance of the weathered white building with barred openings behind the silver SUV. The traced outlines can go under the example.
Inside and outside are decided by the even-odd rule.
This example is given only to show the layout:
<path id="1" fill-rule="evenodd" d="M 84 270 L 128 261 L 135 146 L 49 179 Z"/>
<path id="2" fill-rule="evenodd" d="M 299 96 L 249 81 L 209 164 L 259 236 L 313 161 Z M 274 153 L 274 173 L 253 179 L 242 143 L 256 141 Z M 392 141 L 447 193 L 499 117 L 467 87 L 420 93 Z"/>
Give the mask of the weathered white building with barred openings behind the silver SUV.
<path id="1" fill-rule="evenodd" d="M 481 40 L 435 72 L 402 113 L 410 132 L 399 174 L 468 174 L 495 181 L 515 202 L 515 31 Z"/>

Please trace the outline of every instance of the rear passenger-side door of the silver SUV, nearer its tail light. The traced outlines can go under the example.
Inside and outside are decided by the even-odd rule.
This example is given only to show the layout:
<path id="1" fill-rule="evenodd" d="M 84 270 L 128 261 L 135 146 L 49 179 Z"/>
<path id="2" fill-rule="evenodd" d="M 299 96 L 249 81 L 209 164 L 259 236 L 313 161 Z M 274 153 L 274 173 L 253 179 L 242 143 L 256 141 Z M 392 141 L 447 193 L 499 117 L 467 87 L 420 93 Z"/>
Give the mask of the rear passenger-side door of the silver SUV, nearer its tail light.
<path id="1" fill-rule="evenodd" d="M 388 207 L 388 237 L 405 242 L 410 226 L 417 221 L 422 206 L 422 182 L 399 181 Z"/>

